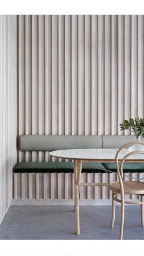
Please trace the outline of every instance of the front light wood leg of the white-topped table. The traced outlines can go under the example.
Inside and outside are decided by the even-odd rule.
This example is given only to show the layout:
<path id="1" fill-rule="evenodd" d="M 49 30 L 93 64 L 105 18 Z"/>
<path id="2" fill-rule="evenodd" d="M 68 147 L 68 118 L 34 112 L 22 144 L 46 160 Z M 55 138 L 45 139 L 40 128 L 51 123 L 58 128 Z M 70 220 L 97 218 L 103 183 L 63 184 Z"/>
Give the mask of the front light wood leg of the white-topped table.
<path id="1" fill-rule="evenodd" d="M 79 185 L 81 180 L 82 161 L 79 166 L 76 160 L 74 160 L 74 210 L 75 210 L 75 233 L 80 235 L 79 225 Z"/>

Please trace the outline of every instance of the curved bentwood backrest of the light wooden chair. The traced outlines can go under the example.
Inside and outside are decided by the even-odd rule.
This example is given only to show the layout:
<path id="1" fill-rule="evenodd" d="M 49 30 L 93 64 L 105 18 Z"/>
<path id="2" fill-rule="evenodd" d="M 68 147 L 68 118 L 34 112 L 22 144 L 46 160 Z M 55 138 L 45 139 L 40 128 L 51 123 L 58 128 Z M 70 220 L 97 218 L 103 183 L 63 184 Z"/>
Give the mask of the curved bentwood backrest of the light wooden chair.
<path id="1" fill-rule="evenodd" d="M 128 152 L 128 148 L 131 147 L 132 145 L 143 145 L 144 146 L 144 142 L 143 141 L 135 141 L 135 142 L 129 142 L 127 144 L 124 144 L 117 151 L 117 154 L 115 156 L 115 164 L 117 167 L 118 180 L 120 182 L 121 189 L 123 189 L 123 164 L 126 161 L 126 159 L 128 159 L 129 156 L 132 156 L 132 155 L 142 154 L 143 160 L 144 160 L 144 150 L 139 150 L 139 148 L 138 148 L 138 150 Z M 127 148 L 127 152 L 125 154 L 121 154 L 123 152 L 124 148 L 125 149 Z M 121 154 L 121 158 L 120 158 L 120 154 Z"/>

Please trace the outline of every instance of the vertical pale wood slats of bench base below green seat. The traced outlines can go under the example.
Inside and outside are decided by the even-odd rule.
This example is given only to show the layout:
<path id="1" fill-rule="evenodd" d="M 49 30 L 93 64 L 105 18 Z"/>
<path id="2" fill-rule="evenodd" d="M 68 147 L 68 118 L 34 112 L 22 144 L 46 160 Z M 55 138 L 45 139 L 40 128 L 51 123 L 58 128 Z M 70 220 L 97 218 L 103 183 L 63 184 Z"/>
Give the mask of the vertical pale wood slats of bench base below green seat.
<path id="1" fill-rule="evenodd" d="M 20 175 L 21 177 L 21 182 L 19 185 L 19 191 L 18 191 L 18 180 L 17 176 Z M 38 183 L 38 175 L 39 174 L 33 174 L 34 177 L 32 179 L 32 194 L 34 199 L 38 199 L 39 195 L 39 183 Z M 63 180 L 61 177 L 63 176 Z M 103 174 L 103 180 L 104 180 L 104 175 L 108 175 L 108 180 L 110 182 L 117 181 L 117 175 L 115 174 Z M 128 174 L 131 177 L 131 174 Z M 132 176 L 137 177 L 137 174 L 132 174 Z M 51 177 L 51 178 L 50 178 Z M 142 174 L 142 177 L 144 178 L 144 174 Z M 107 177 L 106 177 L 107 178 Z M 105 178 L 105 179 L 106 179 Z M 65 199 L 74 199 L 74 176 L 73 174 L 57 174 L 57 181 L 55 180 L 56 177 L 52 174 L 43 174 L 43 183 L 41 184 L 41 190 L 44 191 L 44 197 L 42 199 L 54 199 L 54 191 L 56 191 L 56 194 L 59 194 L 59 200 Z M 102 174 L 90 174 L 89 175 L 90 179 L 90 186 L 94 187 L 95 189 L 90 193 L 90 200 L 110 200 L 111 199 L 111 194 L 109 191 L 109 183 L 101 183 L 102 181 Z M 14 174 L 13 177 L 13 199 L 30 199 L 29 198 L 29 176 L 27 174 Z M 70 181 L 71 186 L 68 186 L 68 181 Z M 95 184 L 96 183 L 96 184 Z M 54 186 L 56 184 L 56 186 Z M 80 186 L 80 199 L 85 200 L 87 199 L 87 192 L 86 192 L 86 186 L 87 184 L 87 174 L 81 174 L 81 184 Z M 96 185 L 96 186 L 95 186 Z M 107 186 L 107 192 L 102 195 L 101 193 L 101 186 Z M 21 192 L 20 192 L 21 191 Z M 59 191 L 59 193 L 58 193 Z M 60 193 L 61 191 L 61 193 Z M 63 195 L 63 196 L 62 196 Z M 58 199 L 58 197 L 56 197 Z M 126 199 L 130 199 L 129 195 L 126 195 Z M 132 199 L 138 199 L 138 196 L 132 197 Z"/>

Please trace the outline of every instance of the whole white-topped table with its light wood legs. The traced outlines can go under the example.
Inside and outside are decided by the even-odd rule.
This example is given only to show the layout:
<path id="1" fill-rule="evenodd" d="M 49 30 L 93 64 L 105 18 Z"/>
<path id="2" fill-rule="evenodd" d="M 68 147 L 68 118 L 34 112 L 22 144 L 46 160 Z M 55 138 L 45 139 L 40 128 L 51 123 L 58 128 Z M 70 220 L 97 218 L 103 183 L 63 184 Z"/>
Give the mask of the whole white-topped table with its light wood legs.
<path id="1" fill-rule="evenodd" d="M 118 148 L 82 148 L 56 150 L 49 153 L 56 158 L 73 160 L 74 170 L 74 211 L 75 211 L 75 233 L 80 234 L 79 226 L 79 188 L 80 186 L 109 186 L 109 183 L 81 183 L 82 162 L 114 162 Z M 120 155 L 120 159 L 128 153 L 128 149 L 124 149 Z M 143 155 L 132 155 L 127 161 L 143 161 Z"/>

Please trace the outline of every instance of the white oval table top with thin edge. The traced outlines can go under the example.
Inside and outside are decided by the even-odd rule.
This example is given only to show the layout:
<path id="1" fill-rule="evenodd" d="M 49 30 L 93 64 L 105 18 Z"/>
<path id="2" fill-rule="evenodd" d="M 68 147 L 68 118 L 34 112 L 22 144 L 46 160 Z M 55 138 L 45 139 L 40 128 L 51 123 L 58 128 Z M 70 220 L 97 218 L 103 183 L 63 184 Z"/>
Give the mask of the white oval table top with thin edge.
<path id="1" fill-rule="evenodd" d="M 56 150 L 49 153 L 51 156 L 64 159 L 77 159 L 77 160 L 90 160 L 90 161 L 115 161 L 115 154 L 118 148 L 82 148 L 82 149 L 67 149 Z M 124 149 L 120 154 L 120 159 L 123 158 L 128 149 Z M 129 157 L 129 161 L 144 161 L 144 156 L 132 155 Z"/>

